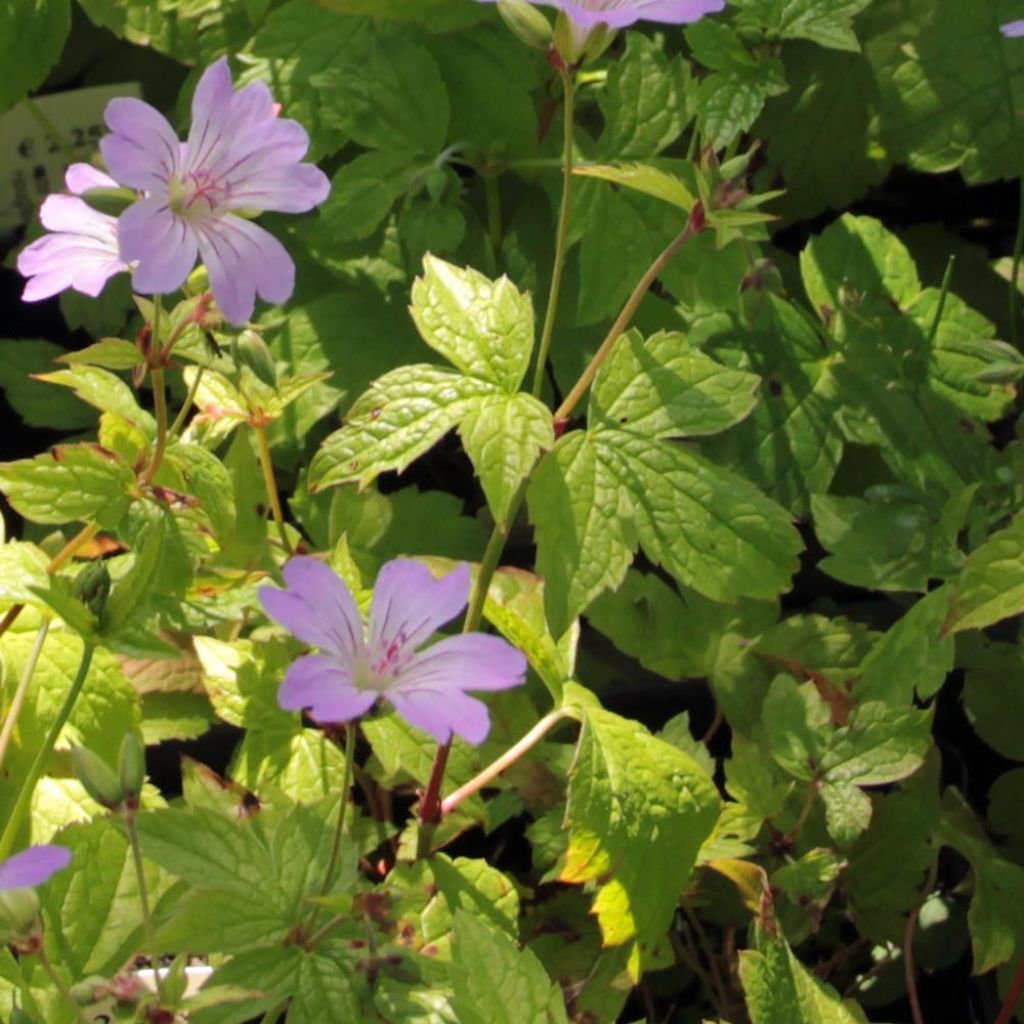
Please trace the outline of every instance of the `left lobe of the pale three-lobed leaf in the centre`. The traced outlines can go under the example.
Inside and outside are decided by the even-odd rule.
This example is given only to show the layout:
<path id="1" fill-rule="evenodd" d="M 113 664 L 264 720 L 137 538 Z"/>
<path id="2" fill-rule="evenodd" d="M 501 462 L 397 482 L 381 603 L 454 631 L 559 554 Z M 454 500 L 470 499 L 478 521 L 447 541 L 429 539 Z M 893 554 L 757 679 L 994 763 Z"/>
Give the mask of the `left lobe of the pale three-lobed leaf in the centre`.
<path id="1" fill-rule="evenodd" d="M 385 374 L 313 456 L 309 489 L 367 484 L 388 470 L 400 472 L 457 426 L 474 399 L 495 393 L 482 380 L 429 365 Z"/>

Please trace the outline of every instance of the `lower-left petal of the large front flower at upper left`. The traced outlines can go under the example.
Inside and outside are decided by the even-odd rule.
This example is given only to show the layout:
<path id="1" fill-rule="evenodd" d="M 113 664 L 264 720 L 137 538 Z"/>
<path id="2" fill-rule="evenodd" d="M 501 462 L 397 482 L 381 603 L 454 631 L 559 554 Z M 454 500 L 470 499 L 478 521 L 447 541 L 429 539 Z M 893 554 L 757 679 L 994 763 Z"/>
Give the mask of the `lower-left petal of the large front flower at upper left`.
<path id="1" fill-rule="evenodd" d="M 177 291 L 196 265 L 195 230 L 157 196 L 140 199 L 121 214 L 118 240 L 121 258 L 138 261 L 132 287 L 147 295 Z"/>

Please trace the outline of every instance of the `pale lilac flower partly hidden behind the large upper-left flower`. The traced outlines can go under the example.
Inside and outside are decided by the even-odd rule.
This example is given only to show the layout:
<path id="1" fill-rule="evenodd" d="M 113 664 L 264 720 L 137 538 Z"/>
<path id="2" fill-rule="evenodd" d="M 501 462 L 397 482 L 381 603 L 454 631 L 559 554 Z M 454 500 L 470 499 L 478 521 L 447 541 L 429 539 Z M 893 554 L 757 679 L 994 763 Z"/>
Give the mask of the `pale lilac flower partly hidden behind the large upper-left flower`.
<path id="1" fill-rule="evenodd" d="M 47 196 L 39 210 L 44 234 L 25 247 L 17 269 L 28 282 L 26 302 L 48 299 L 66 288 L 95 298 L 116 273 L 127 270 L 118 251 L 118 222 L 93 210 L 79 197 L 90 188 L 117 188 L 118 183 L 88 164 L 72 164 L 65 175 L 72 196 Z"/>

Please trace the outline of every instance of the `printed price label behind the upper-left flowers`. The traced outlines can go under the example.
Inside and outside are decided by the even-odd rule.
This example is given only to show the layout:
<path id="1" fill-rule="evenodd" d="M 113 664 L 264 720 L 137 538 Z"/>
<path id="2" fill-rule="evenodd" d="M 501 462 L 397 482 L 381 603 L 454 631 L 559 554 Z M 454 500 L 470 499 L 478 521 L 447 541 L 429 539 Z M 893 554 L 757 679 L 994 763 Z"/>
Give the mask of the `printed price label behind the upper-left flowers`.
<path id="1" fill-rule="evenodd" d="M 42 119 L 25 103 L 0 117 L 0 234 L 27 224 L 46 196 L 63 190 L 68 155 L 43 120 L 67 142 L 75 160 L 87 161 L 106 133 L 108 101 L 138 95 L 137 83 L 98 85 L 40 96 L 34 102 Z"/>

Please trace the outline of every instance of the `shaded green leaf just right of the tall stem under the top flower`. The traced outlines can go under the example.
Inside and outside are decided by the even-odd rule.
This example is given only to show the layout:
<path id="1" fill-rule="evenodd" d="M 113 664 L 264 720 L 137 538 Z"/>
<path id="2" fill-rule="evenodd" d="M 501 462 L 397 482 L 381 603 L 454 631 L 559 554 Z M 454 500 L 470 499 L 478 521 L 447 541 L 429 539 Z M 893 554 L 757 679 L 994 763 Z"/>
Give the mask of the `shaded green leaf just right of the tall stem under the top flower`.
<path id="1" fill-rule="evenodd" d="M 626 52 L 598 94 L 604 117 L 598 159 L 642 160 L 671 145 L 693 117 L 693 91 L 682 57 L 670 58 L 646 36 L 627 33 Z"/>

